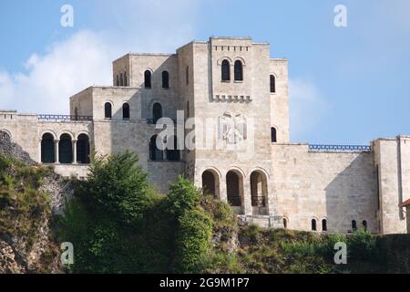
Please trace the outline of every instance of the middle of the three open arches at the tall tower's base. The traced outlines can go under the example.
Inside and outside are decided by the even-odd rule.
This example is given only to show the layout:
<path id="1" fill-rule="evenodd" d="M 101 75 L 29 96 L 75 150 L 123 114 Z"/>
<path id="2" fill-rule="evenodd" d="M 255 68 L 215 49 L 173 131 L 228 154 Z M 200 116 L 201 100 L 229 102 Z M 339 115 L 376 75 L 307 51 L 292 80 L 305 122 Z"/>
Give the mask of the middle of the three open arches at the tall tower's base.
<path id="1" fill-rule="evenodd" d="M 243 179 L 240 172 L 230 171 L 226 174 L 226 191 L 228 203 L 238 214 L 243 214 Z"/>

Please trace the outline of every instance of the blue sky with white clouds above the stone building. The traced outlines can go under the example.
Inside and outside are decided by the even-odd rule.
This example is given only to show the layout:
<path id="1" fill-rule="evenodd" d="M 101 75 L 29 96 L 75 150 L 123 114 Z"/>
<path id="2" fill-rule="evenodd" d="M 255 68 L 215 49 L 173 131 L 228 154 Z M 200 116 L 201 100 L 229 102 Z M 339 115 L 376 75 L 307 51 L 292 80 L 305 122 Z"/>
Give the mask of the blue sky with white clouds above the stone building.
<path id="1" fill-rule="evenodd" d="M 60 7 L 74 7 L 74 27 Z M 333 25 L 335 5 L 347 27 Z M 111 61 L 191 39 L 251 36 L 290 61 L 291 139 L 366 144 L 410 134 L 410 1 L 15 0 L 0 9 L 0 109 L 67 113 L 111 84 Z"/>

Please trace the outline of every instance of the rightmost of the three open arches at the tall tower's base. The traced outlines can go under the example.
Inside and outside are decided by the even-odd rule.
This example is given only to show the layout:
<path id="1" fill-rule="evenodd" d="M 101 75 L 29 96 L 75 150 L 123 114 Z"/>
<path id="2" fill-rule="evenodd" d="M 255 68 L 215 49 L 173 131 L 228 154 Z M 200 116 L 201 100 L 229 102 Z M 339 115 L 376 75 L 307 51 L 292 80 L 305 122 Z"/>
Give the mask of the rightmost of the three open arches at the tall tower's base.
<path id="1" fill-rule="evenodd" d="M 251 205 L 253 214 L 268 214 L 268 183 L 263 172 L 251 172 Z"/>

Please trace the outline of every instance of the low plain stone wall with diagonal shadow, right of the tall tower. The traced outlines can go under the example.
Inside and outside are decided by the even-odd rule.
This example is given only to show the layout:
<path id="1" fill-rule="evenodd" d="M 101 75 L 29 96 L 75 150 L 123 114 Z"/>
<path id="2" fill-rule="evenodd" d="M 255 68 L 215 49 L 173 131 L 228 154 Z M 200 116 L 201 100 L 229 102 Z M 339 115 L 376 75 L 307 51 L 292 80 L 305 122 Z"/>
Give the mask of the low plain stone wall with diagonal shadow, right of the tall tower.
<path id="1" fill-rule="evenodd" d="M 352 231 L 352 221 L 378 232 L 377 179 L 374 153 L 313 152 L 306 144 L 272 146 L 272 192 L 278 214 L 288 227 L 318 231 L 327 220 L 329 232 Z"/>

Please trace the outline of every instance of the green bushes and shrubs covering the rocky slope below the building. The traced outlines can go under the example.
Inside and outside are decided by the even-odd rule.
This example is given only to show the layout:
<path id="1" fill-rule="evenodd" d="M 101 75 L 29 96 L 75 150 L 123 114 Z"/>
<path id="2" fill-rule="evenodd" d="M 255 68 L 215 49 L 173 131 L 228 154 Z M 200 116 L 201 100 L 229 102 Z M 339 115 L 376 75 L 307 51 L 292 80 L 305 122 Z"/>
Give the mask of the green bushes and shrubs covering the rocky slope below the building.
<path id="1" fill-rule="evenodd" d="M 319 235 L 253 224 L 239 226 L 231 207 L 180 176 L 156 193 L 131 152 L 94 158 L 87 181 L 54 224 L 58 242 L 71 242 L 72 273 L 408 273 L 410 237 Z M 19 238 L 26 254 L 44 224 L 55 223 L 47 193 L 50 168 L 0 155 L 0 235 Z M 56 263 L 51 238 L 35 263 Z M 347 245 L 347 265 L 335 265 L 334 244 Z M 54 243 L 54 244 L 53 244 Z M 24 255 L 24 254 L 23 254 Z"/>

